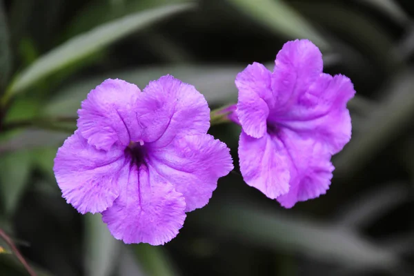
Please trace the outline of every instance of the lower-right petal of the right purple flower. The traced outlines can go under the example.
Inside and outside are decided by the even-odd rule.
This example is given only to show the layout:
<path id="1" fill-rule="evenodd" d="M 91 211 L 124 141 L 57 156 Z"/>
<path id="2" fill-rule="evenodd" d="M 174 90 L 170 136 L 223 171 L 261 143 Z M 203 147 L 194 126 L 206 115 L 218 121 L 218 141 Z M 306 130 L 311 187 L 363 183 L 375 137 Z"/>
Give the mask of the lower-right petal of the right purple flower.
<path id="1" fill-rule="evenodd" d="M 277 197 L 282 206 L 293 207 L 297 201 L 306 201 L 323 195 L 331 184 L 331 154 L 324 144 L 282 129 L 277 132 L 289 157 L 290 190 Z"/>

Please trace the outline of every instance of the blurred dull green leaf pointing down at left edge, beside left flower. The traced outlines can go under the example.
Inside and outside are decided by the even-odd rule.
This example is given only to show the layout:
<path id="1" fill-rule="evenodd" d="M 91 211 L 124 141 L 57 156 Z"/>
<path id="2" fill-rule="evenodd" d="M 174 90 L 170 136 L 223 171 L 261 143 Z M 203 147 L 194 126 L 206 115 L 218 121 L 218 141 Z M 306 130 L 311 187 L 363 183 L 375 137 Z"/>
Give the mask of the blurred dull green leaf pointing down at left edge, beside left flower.
<path id="1" fill-rule="evenodd" d="M 31 155 L 27 150 L 2 154 L 0 158 L 0 188 L 6 214 L 11 215 L 26 185 L 29 183 Z"/>

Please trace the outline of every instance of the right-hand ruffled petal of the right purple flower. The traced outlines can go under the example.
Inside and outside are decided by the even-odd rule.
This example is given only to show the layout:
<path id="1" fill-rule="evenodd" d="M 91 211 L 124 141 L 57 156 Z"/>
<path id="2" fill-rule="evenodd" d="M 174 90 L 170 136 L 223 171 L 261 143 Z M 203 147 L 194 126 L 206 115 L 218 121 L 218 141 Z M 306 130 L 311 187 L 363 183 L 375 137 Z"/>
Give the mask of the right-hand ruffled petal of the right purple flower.
<path id="1" fill-rule="evenodd" d="M 277 124 L 321 141 L 335 154 L 351 139 L 346 103 L 354 95 L 353 84 L 347 77 L 321 74 L 292 108 L 277 118 Z"/>

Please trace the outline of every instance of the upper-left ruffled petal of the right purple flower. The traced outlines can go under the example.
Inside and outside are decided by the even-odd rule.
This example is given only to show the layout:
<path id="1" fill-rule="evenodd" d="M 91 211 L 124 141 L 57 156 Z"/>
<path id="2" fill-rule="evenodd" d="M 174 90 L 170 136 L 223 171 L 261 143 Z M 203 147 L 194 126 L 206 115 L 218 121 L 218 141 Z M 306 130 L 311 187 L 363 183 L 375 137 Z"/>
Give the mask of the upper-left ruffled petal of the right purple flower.
<path id="1" fill-rule="evenodd" d="M 263 64 L 253 63 L 237 75 L 235 83 L 239 90 L 236 112 L 244 132 L 251 137 L 262 137 L 266 133 L 269 108 L 275 105 L 271 73 Z"/>

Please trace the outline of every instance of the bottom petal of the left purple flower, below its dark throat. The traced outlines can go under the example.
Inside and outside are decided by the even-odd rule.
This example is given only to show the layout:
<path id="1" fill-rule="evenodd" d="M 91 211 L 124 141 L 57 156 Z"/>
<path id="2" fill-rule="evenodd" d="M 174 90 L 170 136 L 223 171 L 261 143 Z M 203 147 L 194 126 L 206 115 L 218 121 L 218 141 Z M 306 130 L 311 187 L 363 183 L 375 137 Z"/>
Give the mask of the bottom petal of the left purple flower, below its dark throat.
<path id="1" fill-rule="evenodd" d="M 126 244 L 160 245 L 177 236 L 186 219 L 181 193 L 150 166 L 129 166 L 126 186 L 102 213 L 110 233 Z"/>

